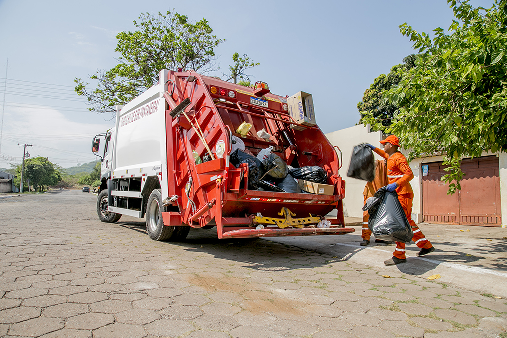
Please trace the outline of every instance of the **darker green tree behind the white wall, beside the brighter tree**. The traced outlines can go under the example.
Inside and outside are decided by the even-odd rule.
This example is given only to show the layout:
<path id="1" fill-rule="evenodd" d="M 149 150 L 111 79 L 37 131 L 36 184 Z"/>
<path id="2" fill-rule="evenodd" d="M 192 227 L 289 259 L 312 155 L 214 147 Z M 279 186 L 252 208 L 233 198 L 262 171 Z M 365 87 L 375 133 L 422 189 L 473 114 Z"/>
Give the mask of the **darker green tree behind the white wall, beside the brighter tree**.
<path id="1" fill-rule="evenodd" d="M 383 93 L 395 87 L 404 73 L 415 67 L 415 54 L 403 59 L 403 63 L 392 66 L 389 73 L 380 74 L 365 91 L 363 101 L 357 103 L 361 115 L 359 123 L 370 123 L 373 130 L 385 131 L 391 125 L 394 112 L 398 109 L 396 104 L 383 99 Z"/>

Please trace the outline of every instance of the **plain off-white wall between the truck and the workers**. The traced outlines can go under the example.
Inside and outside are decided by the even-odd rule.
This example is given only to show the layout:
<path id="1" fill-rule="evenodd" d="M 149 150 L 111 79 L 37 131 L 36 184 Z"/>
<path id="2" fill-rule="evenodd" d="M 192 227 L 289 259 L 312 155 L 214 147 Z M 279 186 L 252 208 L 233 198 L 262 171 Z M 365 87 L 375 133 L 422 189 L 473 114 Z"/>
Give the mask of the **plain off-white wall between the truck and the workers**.
<path id="1" fill-rule="evenodd" d="M 383 139 L 382 132 L 370 132 L 370 126 L 358 125 L 350 128 L 337 130 L 325 134 L 333 145 L 342 151 L 343 164 L 340 168 L 340 175 L 345 179 L 345 199 L 343 200 L 343 212 L 345 217 L 363 217 L 363 192 L 366 181 L 347 177 L 347 170 L 350 163 L 352 149 L 359 143 L 371 143 L 381 146 L 379 141 Z M 374 154 L 376 159 L 381 159 Z"/>

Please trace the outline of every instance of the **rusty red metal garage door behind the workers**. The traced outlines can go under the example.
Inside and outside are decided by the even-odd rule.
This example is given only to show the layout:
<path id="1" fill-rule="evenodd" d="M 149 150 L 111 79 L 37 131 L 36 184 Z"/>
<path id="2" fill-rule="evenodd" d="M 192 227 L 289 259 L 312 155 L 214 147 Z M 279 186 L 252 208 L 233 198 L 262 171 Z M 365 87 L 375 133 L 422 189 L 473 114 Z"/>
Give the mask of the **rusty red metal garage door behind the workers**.
<path id="1" fill-rule="evenodd" d="M 447 172 L 442 162 L 423 163 L 422 209 L 425 222 L 500 227 L 500 179 L 498 158 L 467 159 L 461 162 L 465 174 L 461 190 L 447 195 L 448 185 L 440 178 Z M 424 170 L 423 170 L 424 171 Z"/>

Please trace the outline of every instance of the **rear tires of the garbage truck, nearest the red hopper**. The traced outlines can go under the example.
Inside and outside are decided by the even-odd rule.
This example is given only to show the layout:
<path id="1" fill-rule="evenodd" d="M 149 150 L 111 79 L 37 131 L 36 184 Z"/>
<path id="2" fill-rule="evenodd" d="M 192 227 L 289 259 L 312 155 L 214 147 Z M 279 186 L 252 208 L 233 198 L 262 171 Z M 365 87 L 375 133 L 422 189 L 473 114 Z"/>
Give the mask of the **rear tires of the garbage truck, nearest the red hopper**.
<path id="1" fill-rule="evenodd" d="M 146 205 L 146 232 L 156 241 L 180 241 L 187 237 L 190 230 L 183 226 L 165 226 L 162 218 L 162 190 L 155 189 Z"/>

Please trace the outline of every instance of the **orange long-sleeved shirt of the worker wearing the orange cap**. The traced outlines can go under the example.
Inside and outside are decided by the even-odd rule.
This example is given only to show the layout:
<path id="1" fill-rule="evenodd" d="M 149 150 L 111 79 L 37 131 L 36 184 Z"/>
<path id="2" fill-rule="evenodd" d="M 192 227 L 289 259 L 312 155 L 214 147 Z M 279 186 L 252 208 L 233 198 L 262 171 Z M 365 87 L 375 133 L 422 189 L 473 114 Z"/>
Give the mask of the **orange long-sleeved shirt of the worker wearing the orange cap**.
<path id="1" fill-rule="evenodd" d="M 413 193 L 414 191 L 412 190 L 412 185 L 410 185 L 409 182 L 412 178 L 414 178 L 414 173 L 412 172 L 405 156 L 403 156 L 400 152 L 396 152 L 391 156 L 388 156 L 380 148 L 376 148 L 374 152 L 382 156 L 384 159 L 387 159 L 387 179 L 389 180 L 389 183 L 398 183 L 396 193 L 398 195 Z"/>

